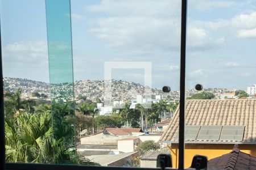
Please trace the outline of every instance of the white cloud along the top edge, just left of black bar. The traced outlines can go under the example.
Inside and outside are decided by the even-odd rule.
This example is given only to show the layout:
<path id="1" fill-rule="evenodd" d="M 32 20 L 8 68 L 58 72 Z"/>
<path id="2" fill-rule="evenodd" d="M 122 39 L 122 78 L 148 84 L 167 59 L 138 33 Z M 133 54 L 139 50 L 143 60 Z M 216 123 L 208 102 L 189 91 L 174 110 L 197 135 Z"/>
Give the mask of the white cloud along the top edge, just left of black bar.
<path id="1" fill-rule="evenodd" d="M 107 12 L 118 16 L 174 16 L 180 15 L 181 1 L 170 0 L 102 0 L 86 8 L 91 12 Z"/>

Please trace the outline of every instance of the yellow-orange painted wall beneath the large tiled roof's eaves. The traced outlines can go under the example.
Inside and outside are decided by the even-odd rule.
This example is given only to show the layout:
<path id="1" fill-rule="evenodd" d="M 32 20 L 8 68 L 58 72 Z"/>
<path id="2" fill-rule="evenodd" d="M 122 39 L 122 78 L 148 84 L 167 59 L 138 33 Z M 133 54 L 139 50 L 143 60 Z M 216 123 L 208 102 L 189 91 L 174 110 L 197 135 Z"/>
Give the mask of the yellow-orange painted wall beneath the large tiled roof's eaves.
<path id="1" fill-rule="evenodd" d="M 171 155 L 172 155 L 172 166 L 177 168 L 179 162 L 179 146 L 178 144 L 172 144 Z M 256 156 L 256 145 L 238 145 L 240 151 L 250 154 L 251 156 Z M 184 165 L 185 168 L 191 166 L 193 156 L 204 155 L 208 157 L 208 160 L 216 158 L 218 156 L 228 154 L 232 151 L 233 144 L 185 144 L 185 158 Z"/>

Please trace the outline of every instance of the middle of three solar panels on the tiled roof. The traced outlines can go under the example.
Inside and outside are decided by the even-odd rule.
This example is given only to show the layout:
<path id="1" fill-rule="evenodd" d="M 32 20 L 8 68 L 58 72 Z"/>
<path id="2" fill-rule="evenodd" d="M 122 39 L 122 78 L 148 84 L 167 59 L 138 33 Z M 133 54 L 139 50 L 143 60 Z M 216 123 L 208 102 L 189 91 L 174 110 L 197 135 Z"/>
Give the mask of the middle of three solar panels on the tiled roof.
<path id="1" fill-rule="evenodd" d="M 198 140 L 218 140 L 220 138 L 222 126 L 201 126 L 199 134 L 197 135 Z"/>

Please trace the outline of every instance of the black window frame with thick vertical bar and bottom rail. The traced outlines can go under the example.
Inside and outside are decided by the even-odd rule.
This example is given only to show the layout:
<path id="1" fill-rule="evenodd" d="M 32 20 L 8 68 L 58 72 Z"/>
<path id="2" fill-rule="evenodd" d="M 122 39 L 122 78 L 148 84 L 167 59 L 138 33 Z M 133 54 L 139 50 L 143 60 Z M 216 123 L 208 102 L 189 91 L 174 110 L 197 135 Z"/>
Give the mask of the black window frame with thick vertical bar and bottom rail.
<path id="1" fill-rule="evenodd" d="M 0 23 L 1 25 L 1 23 Z M 184 169 L 184 125 L 185 125 L 185 52 L 187 31 L 187 0 L 181 0 L 181 41 L 180 41 L 180 117 L 179 117 L 179 169 Z M 136 167 L 100 167 L 88 165 L 66 164 L 31 164 L 31 163 L 6 163 L 5 162 L 5 113 L 3 101 L 3 67 L 2 67 L 2 44 L 0 29 L 0 169 L 159 169 L 159 168 L 136 168 Z M 171 168 L 172 169 L 172 168 Z"/>

